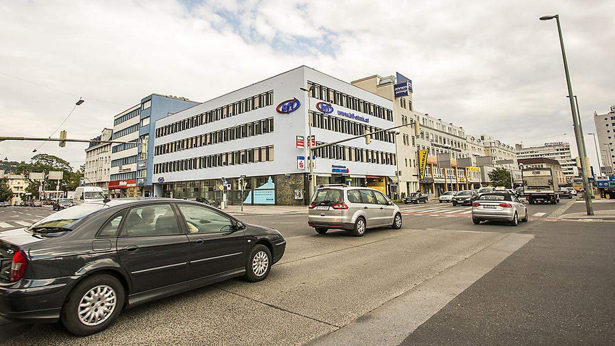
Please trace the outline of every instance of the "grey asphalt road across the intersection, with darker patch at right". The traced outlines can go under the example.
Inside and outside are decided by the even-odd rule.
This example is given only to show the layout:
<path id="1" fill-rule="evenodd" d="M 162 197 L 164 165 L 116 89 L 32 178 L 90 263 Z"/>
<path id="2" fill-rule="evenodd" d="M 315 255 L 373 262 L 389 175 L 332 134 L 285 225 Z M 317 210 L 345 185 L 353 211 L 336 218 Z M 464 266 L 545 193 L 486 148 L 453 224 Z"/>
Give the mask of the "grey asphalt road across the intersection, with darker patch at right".
<path id="1" fill-rule="evenodd" d="M 600 344 L 613 338 L 615 239 L 599 222 L 549 218 L 570 206 L 577 207 L 529 206 L 530 222 L 510 227 L 474 225 L 467 207 L 402 205 L 402 230 L 362 238 L 317 235 L 304 212 L 241 215 L 288 241 L 267 280 L 231 280 L 125 310 L 94 336 L 8 324 L 0 337 L 10 337 L 7 344 Z M 0 209 L 0 226 L 50 212 Z"/>

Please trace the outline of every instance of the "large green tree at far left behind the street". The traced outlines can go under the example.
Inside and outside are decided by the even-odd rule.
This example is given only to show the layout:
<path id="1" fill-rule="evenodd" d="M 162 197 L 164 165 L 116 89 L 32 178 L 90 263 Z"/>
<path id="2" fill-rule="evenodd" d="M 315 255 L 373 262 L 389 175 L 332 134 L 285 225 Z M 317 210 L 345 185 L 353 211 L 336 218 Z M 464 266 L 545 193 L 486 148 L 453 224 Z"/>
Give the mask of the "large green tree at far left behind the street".
<path id="1" fill-rule="evenodd" d="M 60 180 L 60 190 L 71 191 L 79 186 L 79 181 L 83 177 L 83 172 L 73 172 L 73 167 L 65 159 L 49 154 L 37 154 L 32 156 L 29 163 L 20 163 L 15 168 L 16 174 L 23 174 L 28 181 L 26 192 L 32 193 L 32 198 L 39 198 L 39 187 L 41 182 L 30 180 L 30 172 L 62 171 L 63 177 Z M 45 180 L 43 190 L 55 190 L 57 180 Z"/>

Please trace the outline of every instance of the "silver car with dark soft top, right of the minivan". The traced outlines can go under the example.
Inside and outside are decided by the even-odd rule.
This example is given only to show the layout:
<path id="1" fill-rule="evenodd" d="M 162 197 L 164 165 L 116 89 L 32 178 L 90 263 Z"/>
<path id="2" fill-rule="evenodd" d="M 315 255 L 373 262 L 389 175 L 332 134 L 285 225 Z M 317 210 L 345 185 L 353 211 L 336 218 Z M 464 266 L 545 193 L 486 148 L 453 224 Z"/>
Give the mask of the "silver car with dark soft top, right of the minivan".
<path id="1" fill-rule="evenodd" d="M 486 220 L 507 221 L 517 226 L 519 220 L 528 221 L 528 208 L 524 202 L 507 192 L 485 193 L 472 203 L 472 222 L 478 225 Z"/>

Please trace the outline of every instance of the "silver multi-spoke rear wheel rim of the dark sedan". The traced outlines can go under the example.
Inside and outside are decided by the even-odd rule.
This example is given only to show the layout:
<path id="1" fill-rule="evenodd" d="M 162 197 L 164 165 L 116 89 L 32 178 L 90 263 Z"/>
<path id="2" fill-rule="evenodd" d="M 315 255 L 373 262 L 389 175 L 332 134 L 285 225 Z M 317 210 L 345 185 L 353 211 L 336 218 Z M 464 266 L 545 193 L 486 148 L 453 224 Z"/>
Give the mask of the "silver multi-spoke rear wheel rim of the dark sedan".
<path id="1" fill-rule="evenodd" d="M 106 321 L 116 307 L 116 292 L 107 285 L 96 286 L 87 291 L 79 302 L 79 321 L 86 326 L 97 326 Z"/>

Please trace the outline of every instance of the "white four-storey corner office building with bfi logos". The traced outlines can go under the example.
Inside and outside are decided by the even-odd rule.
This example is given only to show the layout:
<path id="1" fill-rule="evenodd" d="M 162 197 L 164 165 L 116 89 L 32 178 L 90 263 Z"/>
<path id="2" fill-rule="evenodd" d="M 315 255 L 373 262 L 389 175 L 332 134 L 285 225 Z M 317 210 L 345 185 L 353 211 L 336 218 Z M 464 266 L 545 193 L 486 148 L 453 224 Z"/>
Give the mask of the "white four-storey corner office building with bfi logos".
<path id="1" fill-rule="evenodd" d="M 309 95 L 300 90 L 306 87 Z M 386 129 L 394 126 L 392 108 L 391 100 L 306 66 L 256 82 L 156 121 L 154 195 L 213 199 L 226 185 L 231 203 L 306 204 L 309 134 L 318 145 Z M 394 137 L 316 150 L 317 183 L 391 195 Z"/>

